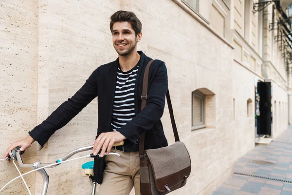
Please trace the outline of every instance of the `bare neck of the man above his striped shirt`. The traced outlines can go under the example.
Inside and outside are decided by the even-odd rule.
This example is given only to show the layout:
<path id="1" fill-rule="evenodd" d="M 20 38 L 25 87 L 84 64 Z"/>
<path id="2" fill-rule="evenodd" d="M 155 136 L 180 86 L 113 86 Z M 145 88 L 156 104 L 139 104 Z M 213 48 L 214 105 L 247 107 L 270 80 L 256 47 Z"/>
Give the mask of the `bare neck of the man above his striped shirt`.
<path id="1" fill-rule="evenodd" d="M 120 63 L 121 70 L 123 72 L 127 72 L 131 70 L 134 66 L 136 66 L 139 60 L 140 60 L 140 55 L 138 54 L 137 51 L 133 51 L 131 52 L 131 54 L 127 56 L 119 55 L 119 63 Z"/>

